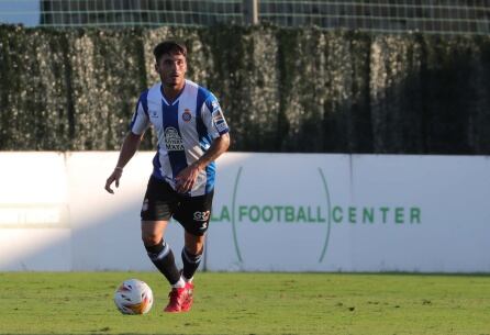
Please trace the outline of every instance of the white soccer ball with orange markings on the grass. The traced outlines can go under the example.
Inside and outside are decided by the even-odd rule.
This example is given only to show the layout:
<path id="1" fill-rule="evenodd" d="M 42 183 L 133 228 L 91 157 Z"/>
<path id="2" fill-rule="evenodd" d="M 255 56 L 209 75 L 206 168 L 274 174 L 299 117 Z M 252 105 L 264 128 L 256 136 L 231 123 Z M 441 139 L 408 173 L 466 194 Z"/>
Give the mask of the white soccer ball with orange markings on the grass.
<path id="1" fill-rule="evenodd" d="M 123 314 L 145 314 L 152 309 L 153 292 L 144 281 L 124 280 L 114 293 L 114 302 Z"/>

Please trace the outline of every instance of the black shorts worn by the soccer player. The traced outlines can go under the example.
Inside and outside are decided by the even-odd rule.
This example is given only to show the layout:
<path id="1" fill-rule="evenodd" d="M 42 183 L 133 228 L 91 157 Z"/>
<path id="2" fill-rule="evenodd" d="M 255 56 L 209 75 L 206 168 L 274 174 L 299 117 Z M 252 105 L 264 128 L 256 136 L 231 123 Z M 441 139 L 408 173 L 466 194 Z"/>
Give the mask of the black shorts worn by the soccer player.
<path id="1" fill-rule="evenodd" d="M 142 221 L 168 221 L 174 216 L 186 232 L 202 236 L 211 219 L 213 193 L 188 197 L 178 193 L 166 181 L 152 176 L 142 206 Z"/>

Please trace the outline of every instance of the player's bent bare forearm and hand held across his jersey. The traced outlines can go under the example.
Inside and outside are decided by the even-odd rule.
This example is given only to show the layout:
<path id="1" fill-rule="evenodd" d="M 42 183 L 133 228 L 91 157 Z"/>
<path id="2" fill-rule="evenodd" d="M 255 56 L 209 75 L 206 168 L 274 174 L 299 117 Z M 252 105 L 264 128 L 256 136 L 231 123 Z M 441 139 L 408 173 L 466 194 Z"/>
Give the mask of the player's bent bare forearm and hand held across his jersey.
<path id="1" fill-rule="evenodd" d="M 213 143 L 198 160 L 185 168 L 177 177 L 177 192 L 186 193 L 192 189 L 199 172 L 205 169 L 211 161 L 214 161 L 230 147 L 230 133 L 222 134 L 214 138 Z"/>

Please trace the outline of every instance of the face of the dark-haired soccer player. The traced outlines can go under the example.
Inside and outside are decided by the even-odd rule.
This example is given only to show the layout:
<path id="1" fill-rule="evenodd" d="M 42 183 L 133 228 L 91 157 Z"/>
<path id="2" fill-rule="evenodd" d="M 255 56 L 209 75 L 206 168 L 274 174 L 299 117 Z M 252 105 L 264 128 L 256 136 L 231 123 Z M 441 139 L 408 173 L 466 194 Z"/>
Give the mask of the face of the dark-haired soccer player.
<path id="1" fill-rule="evenodd" d="M 179 89 L 183 86 L 187 71 L 186 57 L 182 54 L 165 54 L 160 57 L 155 69 L 166 87 Z"/>

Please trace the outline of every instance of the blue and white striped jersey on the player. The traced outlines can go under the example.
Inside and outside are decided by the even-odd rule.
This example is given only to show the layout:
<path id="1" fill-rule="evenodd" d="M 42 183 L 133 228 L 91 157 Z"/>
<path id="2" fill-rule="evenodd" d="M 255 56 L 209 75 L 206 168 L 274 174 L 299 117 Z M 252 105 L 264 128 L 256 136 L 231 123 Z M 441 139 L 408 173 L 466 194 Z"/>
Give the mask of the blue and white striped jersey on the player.
<path id="1" fill-rule="evenodd" d="M 141 94 L 131 131 L 141 135 L 151 125 L 158 136 L 153 176 L 167 181 L 174 189 L 178 174 L 198 160 L 214 138 L 229 132 L 216 97 L 190 80 L 186 80 L 183 90 L 172 102 L 162 93 L 160 82 Z M 211 192 L 214 175 L 213 161 L 201 171 L 190 196 Z"/>

